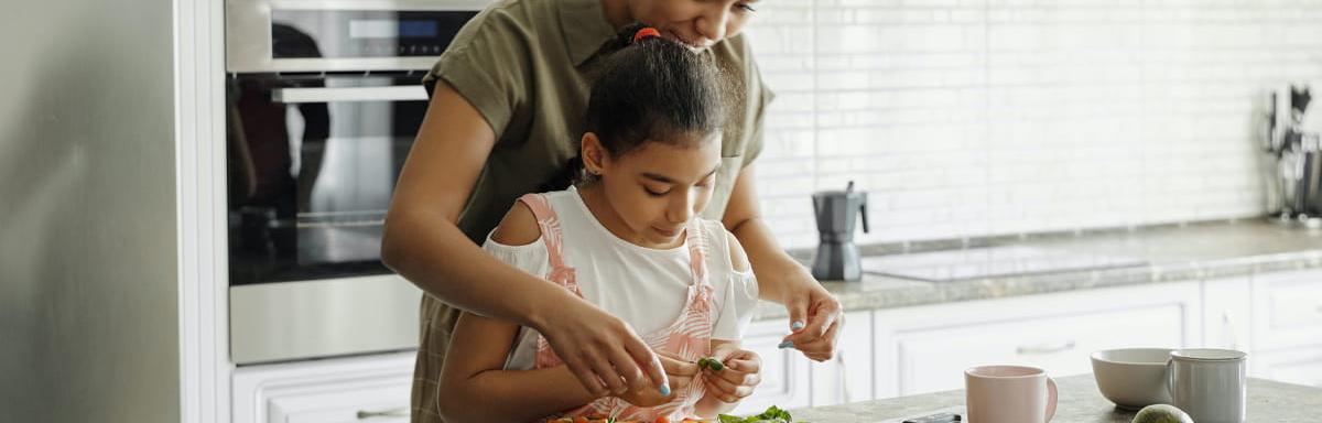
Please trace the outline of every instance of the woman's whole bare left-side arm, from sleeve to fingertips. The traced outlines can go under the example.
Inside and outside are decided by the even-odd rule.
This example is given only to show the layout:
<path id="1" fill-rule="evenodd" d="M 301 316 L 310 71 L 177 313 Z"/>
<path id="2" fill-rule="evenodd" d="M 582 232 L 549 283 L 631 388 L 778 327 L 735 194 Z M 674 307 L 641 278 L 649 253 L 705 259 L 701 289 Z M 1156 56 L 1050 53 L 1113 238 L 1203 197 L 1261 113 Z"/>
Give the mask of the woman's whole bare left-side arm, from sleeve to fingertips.
<path id="1" fill-rule="evenodd" d="M 438 82 L 386 214 L 382 262 L 448 304 L 535 328 L 596 394 L 607 394 L 598 379 L 616 393 L 627 387 L 621 378 L 631 390 L 654 390 L 660 382 L 650 381 L 665 374 L 632 328 L 488 255 L 456 226 L 494 144 L 477 110 Z"/>

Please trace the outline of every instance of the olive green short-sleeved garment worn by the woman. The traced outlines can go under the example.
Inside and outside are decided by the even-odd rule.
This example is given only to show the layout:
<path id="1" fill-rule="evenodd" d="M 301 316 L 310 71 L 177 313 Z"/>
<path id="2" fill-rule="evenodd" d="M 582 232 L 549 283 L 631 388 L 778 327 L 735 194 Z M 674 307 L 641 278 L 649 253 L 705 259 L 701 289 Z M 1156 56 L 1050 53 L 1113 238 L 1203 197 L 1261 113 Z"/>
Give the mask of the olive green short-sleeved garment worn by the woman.
<path id="1" fill-rule="evenodd" d="M 473 17 L 423 79 L 431 91 L 449 83 L 496 134 L 481 176 L 459 219 L 475 243 L 522 194 L 543 190 L 578 155 L 586 126 L 591 75 L 616 29 L 602 0 L 504 0 Z M 761 151 L 761 118 L 772 93 L 743 36 L 718 42 L 710 56 L 727 74 L 732 110 L 723 130 L 722 165 L 703 217 L 720 219 L 739 171 Z M 422 301 L 422 333 L 414 374 L 414 422 L 440 422 L 436 382 L 457 312 L 430 295 Z"/>

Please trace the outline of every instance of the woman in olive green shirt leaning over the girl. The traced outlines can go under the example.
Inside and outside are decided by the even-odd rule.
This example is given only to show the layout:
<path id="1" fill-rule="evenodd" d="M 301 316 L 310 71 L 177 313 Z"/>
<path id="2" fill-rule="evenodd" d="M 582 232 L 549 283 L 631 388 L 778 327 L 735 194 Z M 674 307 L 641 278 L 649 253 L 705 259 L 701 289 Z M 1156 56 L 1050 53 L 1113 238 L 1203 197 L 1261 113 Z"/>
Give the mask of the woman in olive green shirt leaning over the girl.
<path id="1" fill-rule="evenodd" d="M 705 217 L 724 222 L 744 246 L 760 297 L 787 307 L 793 333 L 781 346 L 817 361 L 833 356 L 843 324 L 839 301 L 777 246 L 759 218 L 752 160 L 761 151 L 761 118 L 772 94 L 739 36 L 756 1 L 504 0 L 460 30 L 424 81 L 431 106 L 401 172 L 382 242 L 383 262 L 428 293 L 415 420 L 439 420 L 427 399 L 435 398 L 457 316 L 452 307 L 537 329 L 598 395 L 664 383 L 662 366 L 672 364 L 632 328 L 477 246 L 514 198 L 549 190 L 546 184 L 578 155 L 574 141 L 583 131 L 599 49 L 636 21 L 710 54 L 738 82 Z"/>

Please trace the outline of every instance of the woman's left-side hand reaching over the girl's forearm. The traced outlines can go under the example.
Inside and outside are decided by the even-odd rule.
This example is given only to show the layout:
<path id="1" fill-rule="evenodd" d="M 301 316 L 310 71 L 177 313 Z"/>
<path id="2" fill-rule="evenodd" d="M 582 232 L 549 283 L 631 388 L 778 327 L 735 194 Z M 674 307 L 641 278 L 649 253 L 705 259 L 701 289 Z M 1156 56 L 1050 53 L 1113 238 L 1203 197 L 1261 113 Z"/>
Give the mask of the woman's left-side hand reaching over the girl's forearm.
<path id="1" fill-rule="evenodd" d="M 627 323 L 574 295 L 542 303 L 534 329 L 594 395 L 660 395 L 669 386 L 661 360 Z"/>

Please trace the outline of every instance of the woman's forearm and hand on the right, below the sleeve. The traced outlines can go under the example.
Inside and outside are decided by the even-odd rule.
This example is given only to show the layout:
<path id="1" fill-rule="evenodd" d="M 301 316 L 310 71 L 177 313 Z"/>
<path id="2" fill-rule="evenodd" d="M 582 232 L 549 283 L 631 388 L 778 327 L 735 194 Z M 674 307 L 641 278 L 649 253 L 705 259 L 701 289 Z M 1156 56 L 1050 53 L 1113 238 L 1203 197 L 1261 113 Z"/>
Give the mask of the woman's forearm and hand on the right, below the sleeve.
<path id="1" fill-rule="evenodd" d="M 776 243 L 771 227 L 758 208 L 754 167 L 744 167 L 730 193 L 722 222 L 743 243 L 744 252 L 758 275 L 758 289 L 764 300 L 784 304 L 789 311 L 791 329 L 785 337 L 804 356 L 816 361 L 830 360 L 836 353 L 836 336 L 843 323 L 843 308 L 808 268 L 795 262 Z"/>

